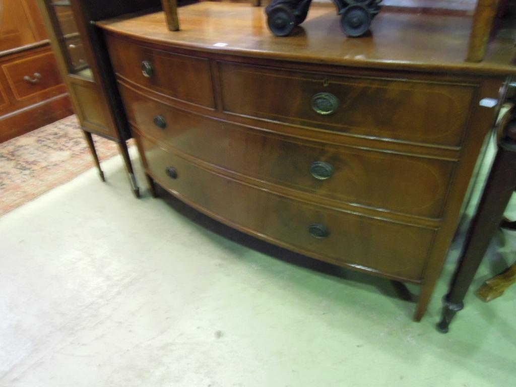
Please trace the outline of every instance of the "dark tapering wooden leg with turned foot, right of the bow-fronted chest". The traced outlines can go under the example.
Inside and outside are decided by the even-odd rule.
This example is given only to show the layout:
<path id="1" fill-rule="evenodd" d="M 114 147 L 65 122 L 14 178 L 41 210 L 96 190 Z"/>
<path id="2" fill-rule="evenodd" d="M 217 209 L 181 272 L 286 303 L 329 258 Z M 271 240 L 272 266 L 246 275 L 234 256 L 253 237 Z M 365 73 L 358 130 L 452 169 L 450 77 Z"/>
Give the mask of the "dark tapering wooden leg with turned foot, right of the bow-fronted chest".
<path id="1" fill-rule="evenodd" d="M 466 235 L 464 250 L 444 298 L 440 332 L 448 332 L 455 314 L 464 307 L 464 296 L 504 215 L 516 187 L 516 117 L 512 116 L 498 143 L 498 151 L 480 199 L 480 204 Z"/>

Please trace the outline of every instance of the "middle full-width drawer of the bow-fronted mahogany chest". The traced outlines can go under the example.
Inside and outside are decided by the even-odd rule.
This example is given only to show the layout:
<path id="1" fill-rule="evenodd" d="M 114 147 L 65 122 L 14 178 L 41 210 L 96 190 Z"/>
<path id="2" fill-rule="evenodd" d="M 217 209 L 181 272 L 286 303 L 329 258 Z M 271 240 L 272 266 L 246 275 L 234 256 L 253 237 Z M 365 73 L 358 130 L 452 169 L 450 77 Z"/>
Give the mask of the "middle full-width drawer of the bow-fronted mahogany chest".
<path id="1" fill-rule="evenodd" d="M 454 162 L 301 141 L 204 118 L 120 89 L 130 122 L 167 147 L 323 198 L 441 216 Z"/>

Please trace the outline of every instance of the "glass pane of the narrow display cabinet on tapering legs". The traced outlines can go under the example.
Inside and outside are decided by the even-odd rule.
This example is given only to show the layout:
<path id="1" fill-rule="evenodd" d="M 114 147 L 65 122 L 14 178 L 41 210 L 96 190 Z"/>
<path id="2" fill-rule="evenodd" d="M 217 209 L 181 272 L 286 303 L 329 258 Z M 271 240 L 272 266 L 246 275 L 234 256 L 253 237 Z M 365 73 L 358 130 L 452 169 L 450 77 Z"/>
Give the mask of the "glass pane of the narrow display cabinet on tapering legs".
<path id="1" fill-rule="evenodd" d="M 50 4 L 59 24 L 60 31 L 56 32 L 61 34 L 61 44 L 67 57 L 68 71 L 85 78 L 93 78 L 86 60 L 83 42 L 80 40 L 75 24 L 70 0 L 50 0 Z"/>

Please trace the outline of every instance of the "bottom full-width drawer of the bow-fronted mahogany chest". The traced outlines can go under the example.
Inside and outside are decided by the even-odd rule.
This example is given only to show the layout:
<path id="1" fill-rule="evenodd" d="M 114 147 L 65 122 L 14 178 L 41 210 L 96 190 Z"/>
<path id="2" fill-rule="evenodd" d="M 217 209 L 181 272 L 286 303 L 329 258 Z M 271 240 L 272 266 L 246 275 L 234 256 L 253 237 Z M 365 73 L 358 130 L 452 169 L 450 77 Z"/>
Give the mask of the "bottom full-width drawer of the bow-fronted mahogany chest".
<path id="1" fill-rule="evenodd" d="M 139 141 L 154 178 L 218 220 L 329 262 L 421 277 L 433 230 L 282 197 L 190 164 L 145 137 Z"/>

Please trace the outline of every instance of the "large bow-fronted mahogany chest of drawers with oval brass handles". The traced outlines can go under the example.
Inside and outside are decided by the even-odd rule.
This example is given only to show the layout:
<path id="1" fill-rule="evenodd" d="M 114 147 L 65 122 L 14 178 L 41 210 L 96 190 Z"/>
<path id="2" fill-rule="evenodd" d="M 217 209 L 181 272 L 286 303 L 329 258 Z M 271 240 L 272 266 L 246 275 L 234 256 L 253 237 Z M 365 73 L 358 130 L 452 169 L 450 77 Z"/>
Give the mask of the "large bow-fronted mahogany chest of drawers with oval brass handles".
<path id="1" fill-rule="evenodd" d="M 179 33 L 163 13 L 99 23 L 151 185 L 271 243 L 420 284 L 420 319 L 493 121 L 479 101 L 503 71 L 343 65 L 342 43 L 321 48 L 328 9 L 311 11 L 330 26 L 310 44 L 269 38 L 247 5 L 181 11 Z"/>

